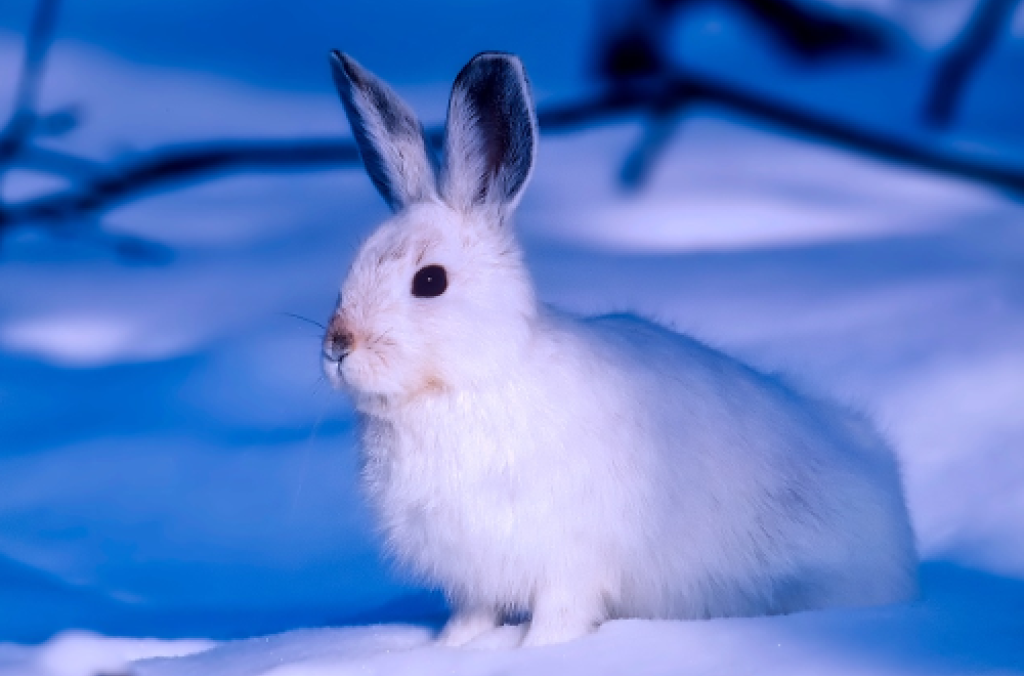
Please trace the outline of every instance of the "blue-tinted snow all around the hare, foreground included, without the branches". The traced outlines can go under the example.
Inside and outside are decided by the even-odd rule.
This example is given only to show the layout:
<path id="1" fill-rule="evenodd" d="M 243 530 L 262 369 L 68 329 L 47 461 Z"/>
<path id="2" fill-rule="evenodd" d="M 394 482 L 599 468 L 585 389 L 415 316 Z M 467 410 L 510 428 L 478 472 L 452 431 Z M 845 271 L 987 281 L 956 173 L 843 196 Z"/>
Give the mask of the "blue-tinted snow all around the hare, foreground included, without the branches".
<path id="1" fill-rule="evenodd" d="M 161 11 L 183 20 L 199 4 Z M 98 49 L 89 31 L 113 29 L 77 16 L 84 37 L 57 43 L 44 100 L 81 104 L 86 122 L 48 142 L 111 160 L 171 141 L 345 132 L 321 60 L 308 65 L 318 89 L 243 83 L 157 62 L 167 45 L 150 60 Z M 138 37 L 119 39 L 131 52 Z M 374 67 L 388 46 L 367 40 L 356 55 Z M 17 42 L 0 31 L 0 82 Z M 468 56 L 471 42 L 450 51 Z M 540 44 L 554 60 L 555 41 Z M 1006 45 L 991 71 L 1019 49 Z M 400 87 L 428 121 L 461 66 L 449 56 L 426 84 Z M 527 54 L 542 89 L 580 85 L 544 58 Z M 914 58 L 910 72 L 924 68 Z M 385 75 L 403 68 L 382 62 Z M 779 88 L 783 71 L 759 72 Z M 864 95 L 885 97 L 906 71 L 866 73 L 807 73 L 800 91 L 907 126 L 894 111 L 912 96 Z M 1007 121 L 1021 99 L 994 83 L 979 83 L 957 133 L 1019 153 L 1024 129 Z M 645 313 L 871 412 L 903 462 L 922 601 L 618 621 L 529 650 L 509 647 L 511 627 L 470 649 L 430 646 L 443 603 L 381 560 L 355 492 L 351 411 L 319 375 L 319 329 L 289 315 L 326 319 L 384 207 L 359 170 L 231 175 L 103 218 L 167 245 L 166 265 L 33 230 L 4 241 L 0 676 L 1024 673 L 1024 209 L 715 111 L 687 120 L 631 194 L 616 176 L 639 131 L 625 121 L 543 139 L 519 218 L 542 295 Z M 2 187 L 20 199 L 48 180 L 18 171 Z"/>

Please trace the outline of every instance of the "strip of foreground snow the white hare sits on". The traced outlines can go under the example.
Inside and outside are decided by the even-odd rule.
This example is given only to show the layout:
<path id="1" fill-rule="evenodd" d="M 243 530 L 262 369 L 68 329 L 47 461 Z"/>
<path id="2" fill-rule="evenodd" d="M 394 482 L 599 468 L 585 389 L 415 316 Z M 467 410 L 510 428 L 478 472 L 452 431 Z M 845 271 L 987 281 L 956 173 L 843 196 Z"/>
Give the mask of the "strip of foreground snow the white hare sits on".
<path id="1" fill-rule="evenodd" d="M 89 644 L 87 636 L 61 635 L 41 648 L 40 663 L 105 647 L 108 656 L 154 656 L 130 665 L 135 676 L 1020 673 L 1024 585 L 949 564 L 928 564 L 924 574 L 927 601 L 910 607 L 689 623 L 623 620 L 545 648 L 511 647 L 520 637 L 511 627 L 460 649 L 432 646 L 432 632 L 423 627 L 378 625 L 303 629 L 208 649 L 199 642 L 126 644 L 100 637 Z M 39 673 L 89 673 L 56 669 Z"/>

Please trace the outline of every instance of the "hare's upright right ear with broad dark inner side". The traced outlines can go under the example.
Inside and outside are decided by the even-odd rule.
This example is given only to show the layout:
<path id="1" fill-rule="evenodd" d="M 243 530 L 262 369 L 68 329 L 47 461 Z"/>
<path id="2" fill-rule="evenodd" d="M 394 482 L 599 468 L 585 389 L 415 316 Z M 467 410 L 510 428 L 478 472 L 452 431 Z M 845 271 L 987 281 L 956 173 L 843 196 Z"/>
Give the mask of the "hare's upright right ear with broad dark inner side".
<path id="1" fill-rule="evenodd" d="M 536 149 L 537 117 L 522 62 L 512 54 L 477 54 L 452 88 L 441 196 L 458 209 L 512 209 L 529 180 Z"/>

